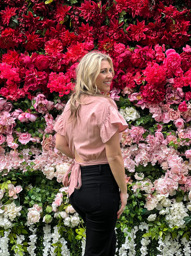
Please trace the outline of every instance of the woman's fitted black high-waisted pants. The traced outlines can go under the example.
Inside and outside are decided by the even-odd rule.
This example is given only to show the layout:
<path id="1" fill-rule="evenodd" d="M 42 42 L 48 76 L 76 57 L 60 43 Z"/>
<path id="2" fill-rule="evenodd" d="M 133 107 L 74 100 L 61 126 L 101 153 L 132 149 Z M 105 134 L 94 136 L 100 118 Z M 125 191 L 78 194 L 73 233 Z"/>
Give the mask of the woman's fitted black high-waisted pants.
<path id="1" fill-rule="evenodd" d="M 86 224 L 84 256 L 114 256 L 119 187 L 109 164 L 81 166 L 81 177 L 70 203 Z"/>

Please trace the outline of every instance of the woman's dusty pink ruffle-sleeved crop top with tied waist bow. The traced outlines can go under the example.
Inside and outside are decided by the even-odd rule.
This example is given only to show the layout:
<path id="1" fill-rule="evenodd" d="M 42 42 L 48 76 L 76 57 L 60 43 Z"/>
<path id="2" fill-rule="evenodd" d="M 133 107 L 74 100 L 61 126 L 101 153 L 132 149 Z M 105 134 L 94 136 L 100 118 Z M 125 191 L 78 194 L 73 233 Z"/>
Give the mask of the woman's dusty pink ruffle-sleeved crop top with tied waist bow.
<path id="1" fill-rule="evenodd" d="M 67 102 L 63 113 L 59 116 L 54 130 L 65 136 L 70 151 L 74 156 L 74 149 L 83 160 L 78 163 L 74 160 L 66 172 L 63 183 L 70 184 L 69 196 L 74 189 L 81 187 L 80 165 L 96 165 L 108 163 L 105 152 L 105 142 L 107 142 L 116 131 L 124 131 L 128 125 L 118 112 L 113 100 L 99 96 L 85 96 L 79 111 L 80 120 L 68 122 L 70 116 L 70 100 Z M 68 181 L 68 174 L 71 171 Z"/>

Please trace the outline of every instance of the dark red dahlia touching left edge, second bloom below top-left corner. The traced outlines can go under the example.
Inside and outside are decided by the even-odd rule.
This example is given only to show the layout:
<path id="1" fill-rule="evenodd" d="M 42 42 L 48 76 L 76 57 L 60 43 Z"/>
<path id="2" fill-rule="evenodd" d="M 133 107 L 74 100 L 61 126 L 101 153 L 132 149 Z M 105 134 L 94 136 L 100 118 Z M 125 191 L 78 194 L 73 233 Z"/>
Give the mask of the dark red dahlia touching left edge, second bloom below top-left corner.
<path id="1" fill-rule="evenodd" d="M 18 47 L 20 42 L 22 42 L 22 34 L 17 29 L 5 28 L 1 32 L 0 48 L 9 50 L 10 48 Z"/>

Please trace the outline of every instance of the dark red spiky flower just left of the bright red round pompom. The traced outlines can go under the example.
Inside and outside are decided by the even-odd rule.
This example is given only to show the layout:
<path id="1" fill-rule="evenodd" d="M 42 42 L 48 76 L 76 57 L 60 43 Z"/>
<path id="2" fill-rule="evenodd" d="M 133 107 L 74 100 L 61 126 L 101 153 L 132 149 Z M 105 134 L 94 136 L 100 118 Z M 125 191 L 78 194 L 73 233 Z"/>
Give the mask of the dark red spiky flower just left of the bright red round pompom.
<path id="1" fill-rule="evenodd" d="M 26 39 L 23 40 L 23 46 L 27 51 L 38 50 L 43 44 L 43 38 L 40 35 L 35 35 L 35 31 L 25 33 Z"/>

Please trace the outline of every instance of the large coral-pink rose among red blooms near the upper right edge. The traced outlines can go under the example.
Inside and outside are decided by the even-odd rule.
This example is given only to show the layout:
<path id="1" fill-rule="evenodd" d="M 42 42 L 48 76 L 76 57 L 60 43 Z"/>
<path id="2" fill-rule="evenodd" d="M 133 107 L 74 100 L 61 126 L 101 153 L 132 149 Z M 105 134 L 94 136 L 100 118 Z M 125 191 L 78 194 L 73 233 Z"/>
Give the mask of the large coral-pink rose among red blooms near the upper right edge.
<path id="1" fill-rule="evenodd" d="M 176 71 L 181 66 L 181 57 L 174 49 L 166 51 L 167 58 L 164 59 L 164 66 L 172 71 Z"/>

